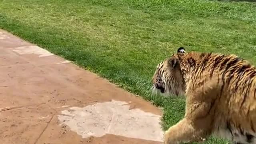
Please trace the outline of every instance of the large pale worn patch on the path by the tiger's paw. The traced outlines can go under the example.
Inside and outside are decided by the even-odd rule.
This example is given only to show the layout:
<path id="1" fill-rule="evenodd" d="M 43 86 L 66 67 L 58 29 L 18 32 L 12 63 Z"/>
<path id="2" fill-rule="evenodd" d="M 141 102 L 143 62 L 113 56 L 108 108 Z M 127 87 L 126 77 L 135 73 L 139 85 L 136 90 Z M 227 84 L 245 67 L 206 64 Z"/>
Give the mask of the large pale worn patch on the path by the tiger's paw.
<path id="1" fill-rule="evenodd" d="M 114 134 L 162 142 L 161 116 L 140 109 L 130 109 L 127 104 L 112 100 L 83 108 L 71 107 L 63 110 L 58 119 L 83 138 Z"/>

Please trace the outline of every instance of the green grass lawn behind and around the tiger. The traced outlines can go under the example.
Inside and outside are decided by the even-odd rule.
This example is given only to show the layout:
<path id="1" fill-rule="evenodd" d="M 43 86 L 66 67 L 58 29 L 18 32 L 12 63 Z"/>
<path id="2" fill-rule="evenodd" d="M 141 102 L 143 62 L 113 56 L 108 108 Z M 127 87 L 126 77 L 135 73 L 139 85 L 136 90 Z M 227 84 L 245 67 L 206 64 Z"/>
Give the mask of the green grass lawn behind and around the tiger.
<path id="1" fill-rule="evenodd" d="M 0 0 L 0 28 L 163 107 L 166 130 L 183 117 L 184 99 L 152 97 L 150 80 L 178 47 L 256 64 L 256 2 L 234 1 Z"/>

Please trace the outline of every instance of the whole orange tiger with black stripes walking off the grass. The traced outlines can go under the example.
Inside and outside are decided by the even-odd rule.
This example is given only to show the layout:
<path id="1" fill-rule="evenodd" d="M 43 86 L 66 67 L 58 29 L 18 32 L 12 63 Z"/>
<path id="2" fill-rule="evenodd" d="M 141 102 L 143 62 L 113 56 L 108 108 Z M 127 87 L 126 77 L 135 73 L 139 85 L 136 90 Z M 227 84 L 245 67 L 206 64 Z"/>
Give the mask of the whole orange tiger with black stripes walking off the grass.
<path id="1" fill-rule="evenodd" d="M 234 54 L 186 52 L 160 62 L 153 92 L 184 96 L 185 115 L 164 132 L 164 144 L 204 142 L 256 144 L 256 68 Z"/>

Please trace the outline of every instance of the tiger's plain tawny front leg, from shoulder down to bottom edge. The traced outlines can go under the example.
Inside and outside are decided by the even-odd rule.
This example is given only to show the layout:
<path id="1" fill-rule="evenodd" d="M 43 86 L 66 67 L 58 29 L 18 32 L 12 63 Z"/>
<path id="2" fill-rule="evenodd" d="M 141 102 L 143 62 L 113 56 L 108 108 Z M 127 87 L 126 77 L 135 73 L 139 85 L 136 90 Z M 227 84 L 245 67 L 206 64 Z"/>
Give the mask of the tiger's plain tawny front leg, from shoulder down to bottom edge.
<path id="1" fill-rule="evenodd" d="M 215 124 L 220 88 L 218 77 L 208 80 L 205 76 L 202 84 L 188 85 L 186 114 L 165 132 L 164 144 L 205 141 L 212 134 Z"/>

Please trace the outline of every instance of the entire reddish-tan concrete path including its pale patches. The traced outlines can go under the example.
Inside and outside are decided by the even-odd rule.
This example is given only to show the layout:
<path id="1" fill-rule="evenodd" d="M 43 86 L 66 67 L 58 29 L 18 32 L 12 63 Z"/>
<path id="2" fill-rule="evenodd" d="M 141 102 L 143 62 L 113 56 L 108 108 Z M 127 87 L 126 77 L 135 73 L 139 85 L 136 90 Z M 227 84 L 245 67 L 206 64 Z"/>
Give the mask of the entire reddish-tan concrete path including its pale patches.
<path id="1" fill-rule="evenodd" d="M 0 30 L 0 144 L 162 144 L 161 110 Z"/>

